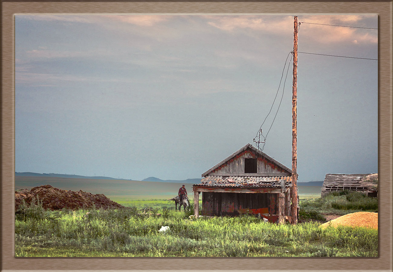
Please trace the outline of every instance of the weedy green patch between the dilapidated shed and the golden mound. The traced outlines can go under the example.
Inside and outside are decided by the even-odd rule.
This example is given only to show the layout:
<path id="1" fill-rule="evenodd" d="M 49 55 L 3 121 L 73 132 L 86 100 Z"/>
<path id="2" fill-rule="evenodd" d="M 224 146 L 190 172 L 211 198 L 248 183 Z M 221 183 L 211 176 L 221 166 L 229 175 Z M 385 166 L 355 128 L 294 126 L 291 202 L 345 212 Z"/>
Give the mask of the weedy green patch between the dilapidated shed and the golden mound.
<path id="1" fill-rule="evenodd" d="M 330 193 L 324 198 L 300 200 L 299 206 L 306 212 L 345 215 L 358 211 L 377 212 L 378 199 L 360 192 L 341 191 Z"/>

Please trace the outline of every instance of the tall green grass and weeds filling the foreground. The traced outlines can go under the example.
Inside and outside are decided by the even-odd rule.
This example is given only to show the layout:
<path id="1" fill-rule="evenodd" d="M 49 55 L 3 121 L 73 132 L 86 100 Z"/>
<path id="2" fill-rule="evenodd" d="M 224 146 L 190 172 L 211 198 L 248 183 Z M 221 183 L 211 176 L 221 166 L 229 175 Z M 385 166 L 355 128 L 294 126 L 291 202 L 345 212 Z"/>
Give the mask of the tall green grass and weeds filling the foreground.
<path id="1" fill-rule="evenodd" d="M 192 210 L 175 212 L 166 201 L 169 205 L 140 201 L 119 210 L 50 211 L 39 201 L 22 205 L 15 220 L 15 256 L 378 256 L 378 230 L 323 229 L 318 222 L 278 225 L 250 215 L 189 219 Z M 158 232 L 161 226 L 170 231 Z"/>

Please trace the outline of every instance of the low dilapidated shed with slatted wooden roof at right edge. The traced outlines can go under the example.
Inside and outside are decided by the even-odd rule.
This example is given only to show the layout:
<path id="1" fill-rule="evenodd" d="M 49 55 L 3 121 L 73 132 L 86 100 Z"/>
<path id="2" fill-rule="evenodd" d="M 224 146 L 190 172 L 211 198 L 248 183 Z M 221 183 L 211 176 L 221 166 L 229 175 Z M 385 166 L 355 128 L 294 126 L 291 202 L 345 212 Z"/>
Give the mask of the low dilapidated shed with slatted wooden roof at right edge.
<path id="1" fill-rule="evenodd" d="M 377 197 L 378 173 L 326 174 L 321 189 L 321 197 L 337 191 L 358 191 L 369 197 Z"/>

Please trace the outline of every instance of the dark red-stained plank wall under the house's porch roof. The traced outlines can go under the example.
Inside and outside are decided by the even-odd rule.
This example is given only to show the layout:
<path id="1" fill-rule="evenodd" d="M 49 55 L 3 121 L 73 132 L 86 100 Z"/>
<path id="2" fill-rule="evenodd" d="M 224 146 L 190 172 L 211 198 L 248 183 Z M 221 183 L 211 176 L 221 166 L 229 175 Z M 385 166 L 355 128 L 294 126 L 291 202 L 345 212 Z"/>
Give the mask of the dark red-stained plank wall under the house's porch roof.
<path id="1" fill-rule="evenodd" d="M 277 214 L 277 194 L 202 192 L 202 215 L 239 215 L 238 209 L 258 208 L 268 208 L 271 215 Z M 288 203 L 286 201 L 285 214 L 287 214 L 287 210 Z"/>

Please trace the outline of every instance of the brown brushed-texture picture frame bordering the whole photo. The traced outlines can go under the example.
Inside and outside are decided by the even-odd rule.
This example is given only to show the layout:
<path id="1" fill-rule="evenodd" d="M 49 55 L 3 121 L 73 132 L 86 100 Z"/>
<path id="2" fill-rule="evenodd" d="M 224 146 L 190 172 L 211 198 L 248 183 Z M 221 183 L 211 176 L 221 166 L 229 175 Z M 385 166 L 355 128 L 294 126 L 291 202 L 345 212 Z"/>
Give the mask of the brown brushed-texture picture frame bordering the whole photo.
<path id="1" fill-rule="evenodd" d="M 176 258 L 176 257 L 15 257 L 15 52 L 14 15 L 36 13 L 376 13 L 378 14 L 378 174 L 380 181 L 378 258 Z M 391 2 L 91 2 L 91 1 L 2 1 L 2 270 L 362 270 L 392 269 L 392 5 Z"/>

